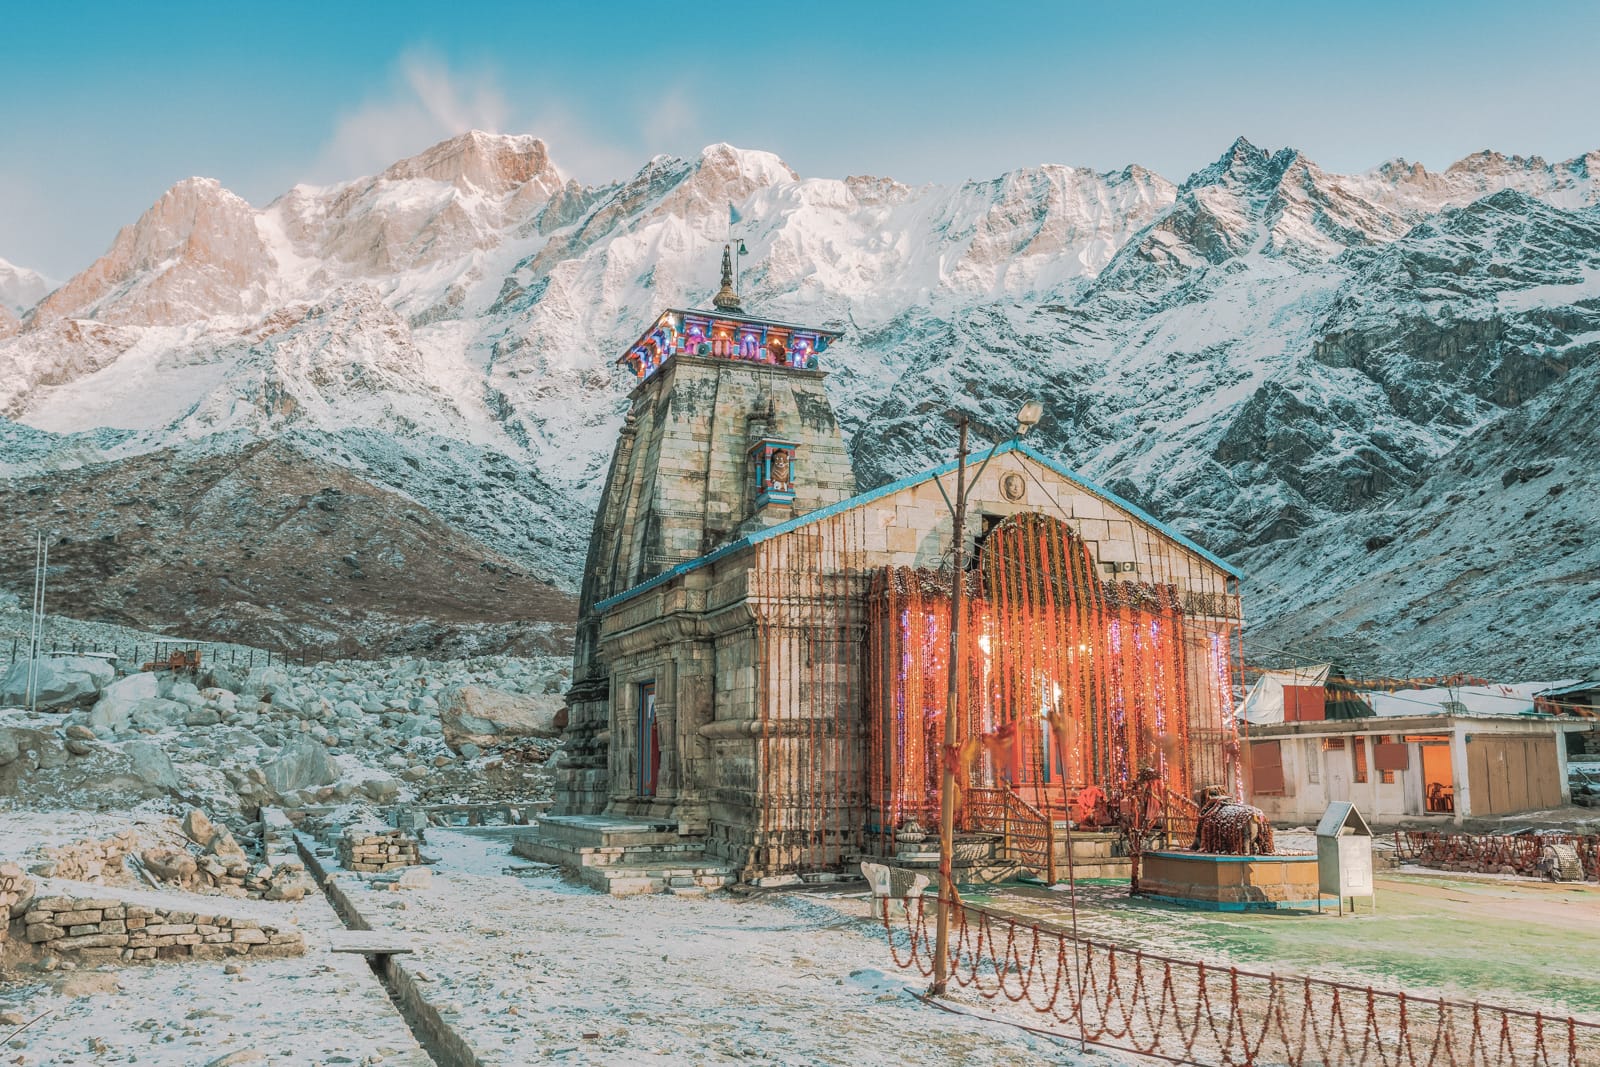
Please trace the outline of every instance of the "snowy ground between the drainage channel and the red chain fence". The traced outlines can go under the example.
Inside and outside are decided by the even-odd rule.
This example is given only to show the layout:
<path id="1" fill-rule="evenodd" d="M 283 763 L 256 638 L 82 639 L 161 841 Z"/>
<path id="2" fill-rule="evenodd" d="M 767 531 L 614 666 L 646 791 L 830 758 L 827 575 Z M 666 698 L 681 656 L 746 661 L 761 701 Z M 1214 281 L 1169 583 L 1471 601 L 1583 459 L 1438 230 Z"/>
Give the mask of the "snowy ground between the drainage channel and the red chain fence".
<path id="1" fill-rule="evenodd" d="M 1122 1062 L 918 1003 L 864 894 L 613 899 L 502 833 L 429 830 L 424 853 L 426 889 L 336 877 L 414 942 L 405 966 L 486 1064 Z"/>

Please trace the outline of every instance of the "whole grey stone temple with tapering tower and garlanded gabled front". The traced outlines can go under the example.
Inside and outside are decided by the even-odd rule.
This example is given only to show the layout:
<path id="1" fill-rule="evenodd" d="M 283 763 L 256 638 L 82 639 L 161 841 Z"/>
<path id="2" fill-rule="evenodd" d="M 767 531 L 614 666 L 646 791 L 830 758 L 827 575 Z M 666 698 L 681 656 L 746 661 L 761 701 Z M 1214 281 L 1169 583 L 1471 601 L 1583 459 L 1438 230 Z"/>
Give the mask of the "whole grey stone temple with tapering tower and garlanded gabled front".
<path id="1" fill-rule="evenodd" d="M 858 494 L 834 358 L 837 331 L 744 310 L 726 251 L 712 309 L 619 357 L 570 758 L 520 853 L 614 893 L 715 886 L 938 821 L 955 464 Z M 1016 440 L 966 477 L 963 830 L 1093 822 L 1141 774 L 1235 789 L 1238 573 Z"/>

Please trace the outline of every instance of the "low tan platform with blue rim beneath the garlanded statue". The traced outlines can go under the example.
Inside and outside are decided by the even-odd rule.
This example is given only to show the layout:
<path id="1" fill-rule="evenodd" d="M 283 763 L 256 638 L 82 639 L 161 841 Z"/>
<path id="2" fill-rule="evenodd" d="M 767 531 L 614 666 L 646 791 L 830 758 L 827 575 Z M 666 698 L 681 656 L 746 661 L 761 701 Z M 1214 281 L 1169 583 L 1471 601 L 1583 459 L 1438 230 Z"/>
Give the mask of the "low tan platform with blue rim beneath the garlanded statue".
<path id="1" fill-rule="evenodd" d="M 1139 896 L 1213 912 L 1315 909 L 1317 856 L 1155 851 L 1139 862 Z"/>

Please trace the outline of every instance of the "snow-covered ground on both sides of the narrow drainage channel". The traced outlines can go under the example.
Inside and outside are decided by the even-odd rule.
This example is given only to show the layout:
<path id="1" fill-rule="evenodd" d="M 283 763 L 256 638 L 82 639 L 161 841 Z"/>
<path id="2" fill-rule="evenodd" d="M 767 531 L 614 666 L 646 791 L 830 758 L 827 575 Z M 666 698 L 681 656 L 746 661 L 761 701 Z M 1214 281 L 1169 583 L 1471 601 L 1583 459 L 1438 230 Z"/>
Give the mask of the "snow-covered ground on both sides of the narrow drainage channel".
<path id="1" fill-rule="evenodd" d="M 0 825 L 0 859 L 152 819 L 19 814 Z M 925 981 L 894 969 L 859 894 L 613 899 L 510 856 L 502 835 L 435 829 L 424 851 L 438 862 L 422 889 L 334 877 L 374 928 L 414 944 L 406 969 L 485 1064 L 1123 1062 L 918 1003 L 910 993 Z M 14 1038 L 3 1062 L 430 1062 L 362 957 L 328 950 L 341 925 L 322 896 L 222 907 L 298 925 L 307 955 L 242 960 L 237 974 L 222 963 L 30 966 L 21 981 L 0 981 L 0 1013 L 10 1013 L 0 1017 L 50 1014 Z"/>

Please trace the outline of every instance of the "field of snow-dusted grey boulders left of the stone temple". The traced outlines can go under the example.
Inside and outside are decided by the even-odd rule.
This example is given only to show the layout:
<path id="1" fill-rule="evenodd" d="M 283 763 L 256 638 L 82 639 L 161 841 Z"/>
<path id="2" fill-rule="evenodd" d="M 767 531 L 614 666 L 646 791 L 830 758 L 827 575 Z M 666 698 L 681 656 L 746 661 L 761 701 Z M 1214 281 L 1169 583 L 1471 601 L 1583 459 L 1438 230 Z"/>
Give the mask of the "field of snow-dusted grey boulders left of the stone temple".
<path id="1" fill-rule="evenodd" d="M 552 691 L 565 688 L 565 673 L 554 657 L 510 656 L 134 673 L 64 718 L 0 710 L 0 805 L 182 797 L 237 827 L 261 805 L 387 805 L 445 785 L 470 789 L 477 765 L 461 753 L 477 758 L 528 734 L 555 747 Z M 442 699 L 464 691 L 488 694 L 461 720 L 477 741 L 458 745 L 477 750 L 443 737 Z"/>

